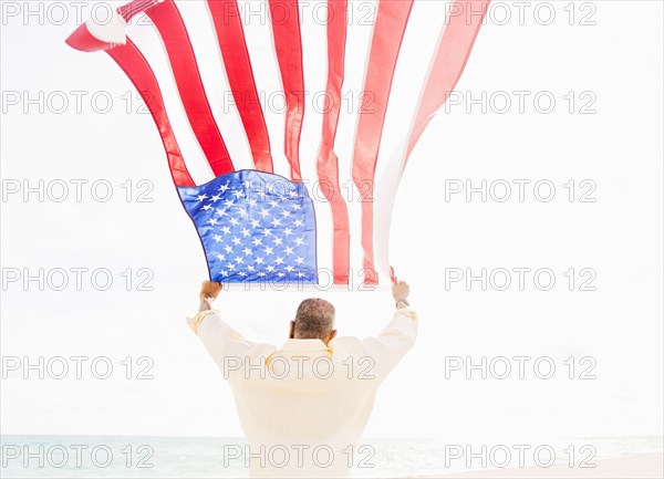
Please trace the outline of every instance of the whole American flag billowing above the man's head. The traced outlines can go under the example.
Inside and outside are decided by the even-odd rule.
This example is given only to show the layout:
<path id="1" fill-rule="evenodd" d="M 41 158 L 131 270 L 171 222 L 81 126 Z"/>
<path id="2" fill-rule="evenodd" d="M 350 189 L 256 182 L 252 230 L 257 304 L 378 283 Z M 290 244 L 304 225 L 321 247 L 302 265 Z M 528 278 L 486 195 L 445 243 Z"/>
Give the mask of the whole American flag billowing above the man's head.
<path id="1" fill-rule="evenodd" d="M 404 168 L 487 9 L 134 0 L 66 41 L 105 51 L 143 97 L 211 280 L 375 285 L 394 279 Z"/>

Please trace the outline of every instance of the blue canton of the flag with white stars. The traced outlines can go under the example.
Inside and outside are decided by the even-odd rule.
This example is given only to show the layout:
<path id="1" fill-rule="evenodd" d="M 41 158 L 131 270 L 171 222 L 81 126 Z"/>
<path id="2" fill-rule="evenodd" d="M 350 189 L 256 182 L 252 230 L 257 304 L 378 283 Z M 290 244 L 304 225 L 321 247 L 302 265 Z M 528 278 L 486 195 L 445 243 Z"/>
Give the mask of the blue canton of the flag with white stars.
<path id="1" fill-rule="evenodd" d="M 318 283 L 315 214 L 303 184 L 243 169 L 177 189 L 212 281 Z"/>

